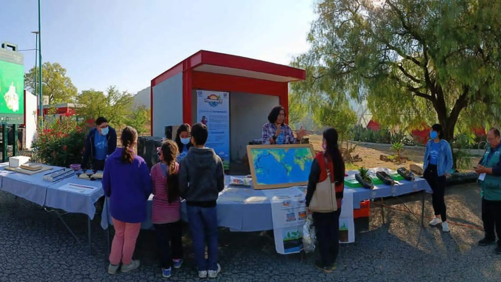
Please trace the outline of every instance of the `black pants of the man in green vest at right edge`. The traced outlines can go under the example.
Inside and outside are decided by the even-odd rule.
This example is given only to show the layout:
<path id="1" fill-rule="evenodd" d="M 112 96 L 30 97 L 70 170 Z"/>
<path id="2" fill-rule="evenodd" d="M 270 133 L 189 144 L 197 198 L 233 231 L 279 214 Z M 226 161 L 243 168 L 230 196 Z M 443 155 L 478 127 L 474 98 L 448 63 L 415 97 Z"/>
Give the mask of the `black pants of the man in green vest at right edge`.
<path id="1" fill-rule="evenodd" d="M 495 240 L 497 234 L 497 245 L 501 245 L 501 201 L 489 201 L 482 198 L 482 221 L 485 238 Z"/>

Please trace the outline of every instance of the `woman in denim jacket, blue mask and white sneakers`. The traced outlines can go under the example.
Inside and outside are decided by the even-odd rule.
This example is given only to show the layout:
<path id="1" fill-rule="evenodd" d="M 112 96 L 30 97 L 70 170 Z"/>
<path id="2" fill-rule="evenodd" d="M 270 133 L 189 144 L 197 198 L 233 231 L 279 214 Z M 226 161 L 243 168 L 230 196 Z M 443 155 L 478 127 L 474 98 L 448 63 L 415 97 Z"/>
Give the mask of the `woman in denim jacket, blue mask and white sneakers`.
<path id="1" fill-rule="evenodd" d="M 435 218 L 430 221 L 431 226 L 442 223 L 442 231 L 449 232 L 445 208 L 445 179 L 452 170 L 452 150 L 449 142 L 442 139 L 443 128 L 440 124 L 431 127 L 430 140 L 424 151 L 423 177 L 433 191 L 431 195 Z"/>

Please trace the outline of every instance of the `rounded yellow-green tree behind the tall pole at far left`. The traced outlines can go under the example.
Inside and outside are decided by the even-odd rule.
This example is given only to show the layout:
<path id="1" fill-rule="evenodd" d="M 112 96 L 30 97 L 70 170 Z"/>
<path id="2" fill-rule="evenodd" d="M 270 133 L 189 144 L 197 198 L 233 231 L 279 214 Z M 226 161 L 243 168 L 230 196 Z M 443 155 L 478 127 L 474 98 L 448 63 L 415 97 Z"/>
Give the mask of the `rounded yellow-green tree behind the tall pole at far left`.
<path id="1" fill-rule="evenodd" d="M 35 79 L 37 80 L 37 93 L 40 93 L 38 84 L 38 68 L 33 67 L 25 74 L 26 88 L 33 92 L 35 90 Z M 77 96 L 77 88 L 66 76 L 66 69 L 58 63 L 46 62 L 42 65 L 42 90 L 44 96 L 49 96 L 49 104 L 74 102 Z"/>

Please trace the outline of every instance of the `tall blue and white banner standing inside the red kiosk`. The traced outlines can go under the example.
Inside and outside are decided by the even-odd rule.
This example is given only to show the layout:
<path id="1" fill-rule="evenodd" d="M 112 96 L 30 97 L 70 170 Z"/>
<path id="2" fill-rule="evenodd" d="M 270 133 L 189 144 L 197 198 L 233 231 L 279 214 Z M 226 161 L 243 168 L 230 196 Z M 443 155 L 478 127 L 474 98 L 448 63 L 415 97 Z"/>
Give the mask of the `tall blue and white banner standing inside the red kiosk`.
<path id="1" fill-rule="evenodd" d="M 197 120 L 207 126 L 206 147 L 221 158 L 229 168 L 229 93 L 197 90 Z"/>

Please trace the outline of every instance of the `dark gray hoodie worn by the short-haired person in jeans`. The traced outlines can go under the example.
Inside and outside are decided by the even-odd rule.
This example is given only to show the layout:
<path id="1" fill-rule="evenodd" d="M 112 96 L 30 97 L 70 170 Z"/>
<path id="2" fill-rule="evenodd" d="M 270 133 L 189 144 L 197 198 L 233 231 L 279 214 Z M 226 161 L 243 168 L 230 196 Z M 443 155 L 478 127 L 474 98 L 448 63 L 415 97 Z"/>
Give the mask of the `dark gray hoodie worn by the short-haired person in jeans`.
<path id="1" fill-rule="evenodd" d="M 222 161 L 210 148 L 191 147 L 179 165 L 179 192 L 188 205 L 215 206 L 224 189 Z"/>

